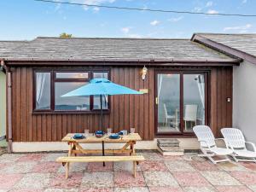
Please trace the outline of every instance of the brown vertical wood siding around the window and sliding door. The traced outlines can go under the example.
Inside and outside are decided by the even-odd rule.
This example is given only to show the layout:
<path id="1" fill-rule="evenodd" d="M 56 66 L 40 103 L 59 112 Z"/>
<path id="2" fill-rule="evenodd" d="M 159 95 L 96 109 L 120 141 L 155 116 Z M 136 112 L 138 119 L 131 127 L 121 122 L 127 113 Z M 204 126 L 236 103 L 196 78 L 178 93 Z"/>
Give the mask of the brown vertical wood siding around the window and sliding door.
<path id="1" fill-rule="evenodd" d="M 113 128 L 115 132 L 135 127 L 144 140 L 152 140 L 154 139 L 154 68 L 148 67 L 147 78 L 144 81 L 141 79 L 141 68 L 110 67 L 110 79 L 113 82 L 135 90 L 148 89 L 148 94 L 110 96 L 110 113 L 103 114 L 103 124 L 106 128 Z M 178 67 L 175 67 L 175 70 L 177 69 Z M 193 70 L 192 67 L 190 69 Z M 226 98 L 232 96 L 232 67 L 212 67 L 207 70 L 211 71 L 210 125 L 214 134 L 218 135 L 220 128 L 232 124 L 232 102 L 226 102 Z M 90 129 L 92 132 L 99 129 L 100 114 L 33 114 L 32 72 L 32 67 L 13 68 L 12 117 L 15 142 L 55 142 L 61 141 L 61 137 L 68 132 L 84 132 L 84 129 Z"/>

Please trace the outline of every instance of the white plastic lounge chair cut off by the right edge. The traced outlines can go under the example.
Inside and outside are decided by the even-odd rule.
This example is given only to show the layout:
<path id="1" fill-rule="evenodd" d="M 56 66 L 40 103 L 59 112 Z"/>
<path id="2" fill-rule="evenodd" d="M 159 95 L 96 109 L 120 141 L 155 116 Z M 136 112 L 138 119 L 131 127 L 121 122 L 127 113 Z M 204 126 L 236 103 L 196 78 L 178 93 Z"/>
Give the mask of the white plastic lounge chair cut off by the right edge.
<path id="1" fill-rule="evenodd" d="M 238 161 L 253 161 L 256 163 L 256 147 L 254 143 L 246 142 L 241 130 L 236 128 L 223 128 L 221 133 L 228 147 L 233 150 L 231 156 Z M 250 144 L 253 150 L 248 150 Z"/>

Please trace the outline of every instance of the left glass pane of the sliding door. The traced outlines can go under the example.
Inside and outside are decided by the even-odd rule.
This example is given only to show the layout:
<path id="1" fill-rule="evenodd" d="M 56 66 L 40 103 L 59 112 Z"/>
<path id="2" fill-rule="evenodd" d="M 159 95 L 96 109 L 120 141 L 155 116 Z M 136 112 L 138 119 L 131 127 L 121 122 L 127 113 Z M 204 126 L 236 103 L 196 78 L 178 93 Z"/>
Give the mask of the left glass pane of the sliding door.
<path id="1" fill-rule="evenodd" d="M 158 133 L 180 131 L 180 74 L 158 74 Z"/>

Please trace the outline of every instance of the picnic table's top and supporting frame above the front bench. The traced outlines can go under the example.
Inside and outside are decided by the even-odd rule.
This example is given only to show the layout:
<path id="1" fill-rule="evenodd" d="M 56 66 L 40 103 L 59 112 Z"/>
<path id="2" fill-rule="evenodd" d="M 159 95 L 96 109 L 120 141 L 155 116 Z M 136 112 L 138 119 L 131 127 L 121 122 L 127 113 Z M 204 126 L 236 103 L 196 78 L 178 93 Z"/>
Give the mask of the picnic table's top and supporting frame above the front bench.
<path id="1" fill-rule="evenodd" d="M 68 156 L 73 154 L 118 154 L 118 153 L 130 153 L 130 155 L 135 155 L 136 151 L 134 145 L 137 141 L 141 141 L 142 137 L 138 133 L 130 133 L 125 136 L 120 136 L 119 139 L 110 139 L 108 135 L 103 137 L 88 136 L 84 139 L 74 139 L 75 133 L 68 133 L 66 137 L 62 138 L 62 142 L 67 142 L 69 147 Z M 80 144 L 81 143 L 102 143 L 102 149 L 85 149 Z M 104 143 L 125 143 L 122 148 L 119 149 L 105 149 Z"/>

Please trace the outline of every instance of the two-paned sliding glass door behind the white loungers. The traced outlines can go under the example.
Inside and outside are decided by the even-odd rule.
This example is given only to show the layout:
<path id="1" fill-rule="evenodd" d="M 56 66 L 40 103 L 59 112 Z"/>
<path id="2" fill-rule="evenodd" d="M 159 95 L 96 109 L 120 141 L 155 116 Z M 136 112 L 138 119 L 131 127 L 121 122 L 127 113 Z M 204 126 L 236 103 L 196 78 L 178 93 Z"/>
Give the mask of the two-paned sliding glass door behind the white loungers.
<path id="1" fill-rule="evenodd" d="M 189 134 L 207 123 L 207 73 L 159 72 L 155 80 L 157 134 Z"/>

